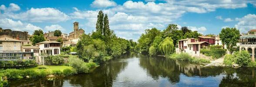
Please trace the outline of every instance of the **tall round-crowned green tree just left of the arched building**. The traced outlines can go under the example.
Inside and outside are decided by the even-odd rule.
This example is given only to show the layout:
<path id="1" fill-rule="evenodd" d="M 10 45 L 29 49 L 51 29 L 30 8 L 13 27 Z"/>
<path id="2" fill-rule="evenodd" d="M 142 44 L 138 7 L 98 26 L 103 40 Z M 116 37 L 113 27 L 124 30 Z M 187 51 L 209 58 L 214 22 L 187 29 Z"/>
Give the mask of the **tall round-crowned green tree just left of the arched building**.
<path id="1" fill-rule="evenodd" d="M 230 53 L 233 52 L 232 47 L 236 46 L 236 43 L 239 40 L 240 32 L 236 28 L 222 28 L 219 33 L 220 40 L 227 46 L 227 49 Z"/>

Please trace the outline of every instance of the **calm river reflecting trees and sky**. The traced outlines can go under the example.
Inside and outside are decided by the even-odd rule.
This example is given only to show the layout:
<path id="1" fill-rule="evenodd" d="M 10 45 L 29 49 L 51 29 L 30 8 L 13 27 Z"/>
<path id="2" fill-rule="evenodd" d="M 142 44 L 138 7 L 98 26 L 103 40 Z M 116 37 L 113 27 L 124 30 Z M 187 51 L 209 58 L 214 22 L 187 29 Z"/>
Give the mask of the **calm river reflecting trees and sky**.
<path id="1" fill-rule="evenodd" d="M 255 87 L 254 68 L 202 68 L 187 62 L 127 54 L 90 74 L 47 79 L 13 80 L 11 87 Z"/>

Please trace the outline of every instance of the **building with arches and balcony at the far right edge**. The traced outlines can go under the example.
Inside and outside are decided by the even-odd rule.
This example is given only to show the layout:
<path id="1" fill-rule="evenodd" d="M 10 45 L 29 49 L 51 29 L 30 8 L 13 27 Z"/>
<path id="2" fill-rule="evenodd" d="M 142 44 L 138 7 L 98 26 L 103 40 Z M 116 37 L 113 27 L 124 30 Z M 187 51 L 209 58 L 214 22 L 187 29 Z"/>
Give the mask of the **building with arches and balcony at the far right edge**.
<path id="1" fill-rule="evenodd" d="M 239 50 L 246 50 L 253 61 L 256 58 L 256 29 L 250 30 L 247 34 L 240 35 Z"/>

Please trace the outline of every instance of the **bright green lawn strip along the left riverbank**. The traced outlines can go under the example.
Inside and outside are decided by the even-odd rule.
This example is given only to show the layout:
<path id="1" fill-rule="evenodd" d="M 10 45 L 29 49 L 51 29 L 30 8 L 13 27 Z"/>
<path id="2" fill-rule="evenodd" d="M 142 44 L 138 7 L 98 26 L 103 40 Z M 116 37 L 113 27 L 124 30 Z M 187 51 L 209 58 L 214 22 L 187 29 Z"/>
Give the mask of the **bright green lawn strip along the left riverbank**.
<path id="1" fill-rule="evenodd" d="M 48 68 L 46 70 L 49 70 L 49 71 L 52 71 L 52 70 L 61 70 L 63 71 L 64 69 L 72 69 L 73 67 L 70 67 L 70 66 L 52 66 L 52 65 L 45 65 L 47 66 Z M 37 67 L 34 67 L 34 68 L 29 68 L 27 70 L 40 70 L 38 69 Z"/>

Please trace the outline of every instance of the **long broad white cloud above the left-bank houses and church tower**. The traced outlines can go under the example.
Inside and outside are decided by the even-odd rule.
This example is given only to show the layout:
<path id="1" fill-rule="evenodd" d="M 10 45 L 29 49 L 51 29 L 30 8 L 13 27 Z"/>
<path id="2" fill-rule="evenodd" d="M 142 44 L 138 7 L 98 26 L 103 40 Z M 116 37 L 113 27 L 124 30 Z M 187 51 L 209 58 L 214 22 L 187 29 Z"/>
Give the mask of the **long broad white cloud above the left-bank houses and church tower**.
<path id="1" fill-rule="evenodd" d="M 30 22 L 61 22 L 69 20 L 69 16 L 54 8 L 31 8 L 22 13 L 4 13 L 7 17 Z"/>

